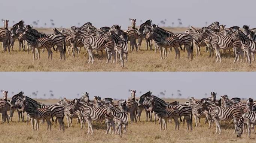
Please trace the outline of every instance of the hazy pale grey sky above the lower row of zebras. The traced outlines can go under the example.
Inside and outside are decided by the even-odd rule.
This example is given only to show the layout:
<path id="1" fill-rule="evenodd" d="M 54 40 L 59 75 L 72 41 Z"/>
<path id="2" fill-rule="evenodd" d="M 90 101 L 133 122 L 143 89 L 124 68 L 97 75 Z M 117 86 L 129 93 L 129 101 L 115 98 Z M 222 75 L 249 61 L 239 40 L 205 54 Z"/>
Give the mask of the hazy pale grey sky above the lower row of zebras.
<path id="1" fill-rule="evenodd" d="M 137 97 L 150 90 L 161 98 L 177 98 L 180 90 L 180 98 L 205 98 L 210 92 L 217 92 L 217 98 L 255 98 L 256 72 L 1 72 L 0 79 L 0 89 L 9 90 L 9 97 L 22 90 L 27 96 L 38 91 L 32 98 L 49 98 L 52 90 L 54 98 L 79 98 L 89 92 L 91 99 L 127 99 L 131 89 L 137 90 Z"/>

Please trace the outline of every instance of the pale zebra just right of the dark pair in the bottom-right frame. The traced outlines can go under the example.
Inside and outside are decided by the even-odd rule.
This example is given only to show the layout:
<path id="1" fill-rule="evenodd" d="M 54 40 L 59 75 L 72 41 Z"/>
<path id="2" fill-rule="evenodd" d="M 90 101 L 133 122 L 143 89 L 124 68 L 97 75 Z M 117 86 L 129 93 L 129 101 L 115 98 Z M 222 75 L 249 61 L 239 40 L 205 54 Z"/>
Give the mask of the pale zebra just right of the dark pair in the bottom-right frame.
<path id="1" fill-rule="evenodd" d="M 208 128 L 211 128 L 211 115 L 208 113 L 208 111 L 204 110 L 200 114 L 197 112 L 197 109 L 200 108 L 200 105 L 201 105 L 201 102 L 196 101 L 193 97 L 191 97 L 191 99 L 189 99 L 189 106 L 191 106 L 191 108 L 192 108 L 192 114 L 195 118 L 196 127 L 200 126 L 200 118 L 207 118 L 208 123 L 209 123 Z"/>

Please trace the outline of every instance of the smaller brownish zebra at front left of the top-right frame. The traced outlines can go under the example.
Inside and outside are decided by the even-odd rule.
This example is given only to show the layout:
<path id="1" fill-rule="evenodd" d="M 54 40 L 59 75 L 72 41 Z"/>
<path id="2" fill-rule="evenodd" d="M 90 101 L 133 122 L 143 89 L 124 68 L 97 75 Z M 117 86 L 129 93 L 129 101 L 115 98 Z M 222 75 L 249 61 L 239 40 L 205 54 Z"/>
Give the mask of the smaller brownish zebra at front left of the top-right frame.
<path id="1" fill-rule="evenodd" d="M 175 59 L 180 58 L 180 51 L 179 51 L 179 47 L 180 47 L 180 39 L 175 37 L 175 36 L 170 36 L 170 37 L 163 37 L 161 35 L 159 35 L 157 32 L 151 32 L 149 34 L 149 39 L 153 39 L 156 44 L 158 45 L 158 48 L 160 49 L 160 55 L 161 55 L 161 60 L 162 60 L 162 48 L 164 48 L 165 54 L 164 54 L 164 58 L 167 58 L 167 48 L 171 48 L 174 47 L 175 50 Z"/>

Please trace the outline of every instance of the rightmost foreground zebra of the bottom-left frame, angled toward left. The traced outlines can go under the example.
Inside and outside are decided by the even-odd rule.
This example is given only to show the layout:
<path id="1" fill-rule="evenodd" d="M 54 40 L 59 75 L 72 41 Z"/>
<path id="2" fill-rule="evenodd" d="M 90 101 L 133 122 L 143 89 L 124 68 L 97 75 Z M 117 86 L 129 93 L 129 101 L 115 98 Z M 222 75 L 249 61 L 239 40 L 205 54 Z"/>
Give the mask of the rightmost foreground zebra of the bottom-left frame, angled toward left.
<path id="1" fill-rule="evenodd" d="M 122 136 L 121 128 L 123 124 L 124 124 L 125 133 L 127 132 L 126 125 L 128 125 L 128 113 L 121 111 L 121 109 L 117 108 L 115 105 L 110 103 L 107 107 L 107 115 L 110 115 L 110 114 L 114 116 L 116 121 L 115 130 L 120 136 Z"/>

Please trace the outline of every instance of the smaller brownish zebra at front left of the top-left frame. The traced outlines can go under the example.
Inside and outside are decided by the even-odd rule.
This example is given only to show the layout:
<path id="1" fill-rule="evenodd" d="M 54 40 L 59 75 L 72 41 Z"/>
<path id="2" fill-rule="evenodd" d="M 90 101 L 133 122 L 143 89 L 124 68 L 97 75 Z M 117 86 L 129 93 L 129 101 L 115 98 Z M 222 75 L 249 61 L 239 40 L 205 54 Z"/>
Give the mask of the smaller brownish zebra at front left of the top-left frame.
<path id="1" fill-rule="evenodd" d="M 50 39 L 48 37 L 35 38 L 33 35 L 31 35 L 27 31 L 22 32 L 22 30 L 20 28 L 18 28 L 15 33 L 22 34 L 22 37 L 28 42 L 28 44 L 32 48 L 34 60 L 35 60 L 35 48 L 37 48 L 37 49 L 46 48 L 48 51 L 48 60 L 49 60 L 50 55 L 51 55 L 51 59 L 52 59 L 52 50 L 51 50 L 51 47 L 53 47 L 52 39 Z M 40 51 L 39 50 L 37 50 L 37 51 L 38 51 L 38 58 L 40 58 L 40 53 L 39 53 Z"/>

